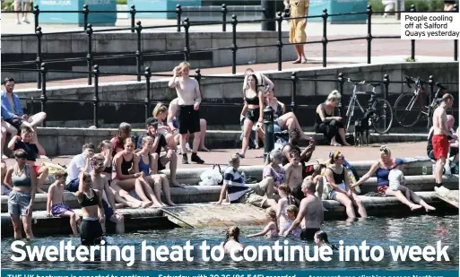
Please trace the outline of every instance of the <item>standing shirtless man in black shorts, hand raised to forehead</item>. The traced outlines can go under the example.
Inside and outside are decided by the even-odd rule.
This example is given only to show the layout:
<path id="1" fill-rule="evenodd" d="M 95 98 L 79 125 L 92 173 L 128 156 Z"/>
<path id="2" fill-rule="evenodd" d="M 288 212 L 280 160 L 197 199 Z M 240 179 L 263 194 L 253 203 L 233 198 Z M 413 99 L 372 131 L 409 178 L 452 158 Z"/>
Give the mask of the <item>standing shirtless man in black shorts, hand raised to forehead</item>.
<path id="1" fill-rule="evenodd" d="M 180 149 L 182 152 L 182 163 L 187 164 L 187 133 L 194 134 L 194 145 L 191 160 L 203 164 L 204 160 L 196 154 L 200 146 L 200 85 L 195 79 L 189 77 L 190 65 L 182 62 L 172 71 L 172 79 L 169 80 L 169 88 L 176 89 L 178 93 L 178 129 L 180 134 Z"/>

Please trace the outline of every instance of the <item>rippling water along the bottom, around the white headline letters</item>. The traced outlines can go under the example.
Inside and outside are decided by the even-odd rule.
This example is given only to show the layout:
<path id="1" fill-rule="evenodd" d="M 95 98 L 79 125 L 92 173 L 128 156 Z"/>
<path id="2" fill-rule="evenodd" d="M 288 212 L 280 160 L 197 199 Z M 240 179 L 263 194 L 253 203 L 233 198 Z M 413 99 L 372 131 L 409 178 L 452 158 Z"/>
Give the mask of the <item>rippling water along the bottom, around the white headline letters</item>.
<path id="1" fill-rule="evenodd" d="M 250 226 L 241 229 L 240 242 L 246 246 L 272 245 L 275 239 L 267 238 L 245 238 L 248 234 L 261 230 L 263 226 Z M 335 253 L 331 262 L 233 262 L 225 258 L 221 262 L 204 262 L 198 246 L 203 240 L 211 246 L 219 245 L 225 238 L 225 228 L 206 229 L 170 229 L 152 230 L 139 233 L 130 233 L 123 236 L 113 236 L 108 241 L 117 242 L 118 246 L 135 245 L 136 253 L 143 240 L 154 247 L 161 244 L 185 245 L 187 240 L 195 246 L 193 256 L 194 262 L 141 262 L 140 255 L 136 255 L 135 265 L 128 268 L 125 262 L 13 262 L 10 256 L 13 254 L 10 249 L 12 238 L 3 239 L 2 247 L 2 269 L 155 269 L 155 270 L 181 270 L 181 269 L 308 269 L 308 268 L 335 268 L 335 269 L 456 269 L 458 270 L 458 215 L 438 216 L 414 216 L 407 218 L 369 218 L 369 220 L 356 221 L 352 226 L 345 221 L 326 221 L 324 230 L 333 244 L 338 244 L 343 239 L 345 245 L 359 246 L 362 240 L 367 241 L 368 246 L 381 246 L 385 249 L 385 257 L 379 262 L 340 262 L 338 253 Z M 33 246 L 55 245 L 58 246 L 62 239 L 72 239 L 74 245 L 79 244 L 79 238 L 68 237 L 47 237 L 36 238 L 30 242 Z M 295 238 L 289 238 L 290 245 L 303 245 Z M 443 246 L 450 246 L 447 250 L 449 262 L 394 262 L 389 253 L 389 246 L 413 246 L 424 247 L 426 245 L 436 246 L 440 240 Z M 312 245 L 310 245 L 312 246 Z M 208 254 L 209 255 L 209 254 Z"/>

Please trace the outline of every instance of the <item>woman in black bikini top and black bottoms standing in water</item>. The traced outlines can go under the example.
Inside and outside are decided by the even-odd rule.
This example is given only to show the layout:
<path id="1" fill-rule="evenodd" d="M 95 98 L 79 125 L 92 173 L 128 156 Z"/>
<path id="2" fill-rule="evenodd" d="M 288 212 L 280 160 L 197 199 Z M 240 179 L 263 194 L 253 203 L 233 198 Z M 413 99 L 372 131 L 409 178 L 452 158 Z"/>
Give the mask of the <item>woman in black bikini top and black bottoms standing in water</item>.
<path id="1" fill-rule="evenodd" d="M 104 209 L 100 194 L 91 188 L 91 175 L 83 172 L 80 177 L 80 188 L 76 193 L 77 201 L 82 206 L 83 220 L 80 225 L 82 246 L 100 245 L 102 226 L 105 224 Z"/>

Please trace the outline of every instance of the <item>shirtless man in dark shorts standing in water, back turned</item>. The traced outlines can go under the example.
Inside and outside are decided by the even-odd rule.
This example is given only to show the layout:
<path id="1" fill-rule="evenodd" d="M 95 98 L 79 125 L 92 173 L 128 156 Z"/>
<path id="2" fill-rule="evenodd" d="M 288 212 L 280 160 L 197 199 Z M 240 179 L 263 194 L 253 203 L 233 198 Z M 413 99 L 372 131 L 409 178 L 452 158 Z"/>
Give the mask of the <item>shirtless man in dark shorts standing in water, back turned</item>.
<path id="1" fill-rule="evenodd" d="M 305 198 L 300 202 L 299 214 L 296 220 L 292 222 L 291 227 L 284 232 L 283 236 L 286 237 L 303 221 L 302 225 L 305 226 L 305 229 L 302 229 L 300 238 L 303 240 L 313 240 L 315 233 L 321 229 L 321 225 L 325 221 L 323 202 L 315 195 L 315 183 L 307 178 L 302 183 L 302 192 Z"/>

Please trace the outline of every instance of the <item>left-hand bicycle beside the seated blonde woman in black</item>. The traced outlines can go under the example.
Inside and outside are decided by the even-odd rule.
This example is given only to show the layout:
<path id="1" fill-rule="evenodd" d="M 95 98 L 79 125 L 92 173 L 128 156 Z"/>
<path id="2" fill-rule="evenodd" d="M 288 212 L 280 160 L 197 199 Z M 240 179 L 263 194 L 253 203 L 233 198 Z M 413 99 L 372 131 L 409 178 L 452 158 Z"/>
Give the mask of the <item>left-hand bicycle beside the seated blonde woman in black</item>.
<path id="1" fill-rule="evenodd" d="M 352 98 L 348 104 L 347 113 L 345 115 L 345 133 L 348 133 L 350 128 L 350 123 L 352 122 L 352 117 L 354 115 L 354 109 L 356 104 L 360 108 L 364 118 L 369 118 L 369 123 L 372 125 L 374 130 L 378 134 L 386 134 L 393 124 L 393 109 L 391 108 L 390 102 L 383 98 L 376 97 L 376 88 L 381 85 L 380 82 L 354 82 L 348 78 L 347 82 L 352 82 L 354 84 Z M 358 91 L 358 85 L 367 84 L 372 86 L 372 91 Z M 360 100 L 358 100 L 358 95 L 370 94 L 370 99 L 368 101 L 368 107 L 366 110 L 362 108 Z M 387 115 L 389 113 L 389 115 Z"/>

